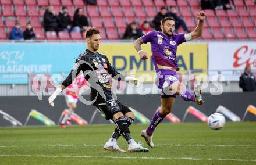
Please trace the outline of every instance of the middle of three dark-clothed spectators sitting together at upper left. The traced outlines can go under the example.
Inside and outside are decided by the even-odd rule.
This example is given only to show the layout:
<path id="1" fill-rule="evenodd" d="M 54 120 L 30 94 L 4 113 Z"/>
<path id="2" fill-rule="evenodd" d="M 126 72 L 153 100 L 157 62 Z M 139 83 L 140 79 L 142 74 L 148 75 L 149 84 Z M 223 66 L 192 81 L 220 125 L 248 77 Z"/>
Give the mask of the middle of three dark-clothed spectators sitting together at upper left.
<path id="1" fill-rule="evenodd" d="M 58 30 L 70 32 L 72 30 L 72 21 L 69 16 L 69 10 L 66 6 L 62 7 L 62 10 L 58 15 Z"/>

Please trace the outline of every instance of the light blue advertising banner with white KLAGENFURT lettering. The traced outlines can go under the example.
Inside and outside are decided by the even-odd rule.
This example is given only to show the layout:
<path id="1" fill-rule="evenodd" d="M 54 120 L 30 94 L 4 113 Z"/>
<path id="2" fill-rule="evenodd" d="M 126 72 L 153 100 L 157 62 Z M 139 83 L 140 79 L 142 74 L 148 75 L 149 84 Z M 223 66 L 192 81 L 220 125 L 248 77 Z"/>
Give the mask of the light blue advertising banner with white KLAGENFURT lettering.
<path id="1" fill-rule="evenodd" d="M 84 43 L 0 44 L 0 84 L 27 83 L 27 74 L 69 72 Z"/>

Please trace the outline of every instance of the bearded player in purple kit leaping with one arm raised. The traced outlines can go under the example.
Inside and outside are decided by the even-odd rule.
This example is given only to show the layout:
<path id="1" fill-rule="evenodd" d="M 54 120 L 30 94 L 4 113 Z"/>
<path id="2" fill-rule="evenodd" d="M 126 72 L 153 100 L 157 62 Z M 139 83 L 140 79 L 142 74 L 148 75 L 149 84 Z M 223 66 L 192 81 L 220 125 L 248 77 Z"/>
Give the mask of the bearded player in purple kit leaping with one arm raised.
<path id="1" fill-rule="evenodd" d="M 175 20 L 173 17 L 166 17 L 161 21 L 162 31 L 150 31 L 143 37 L 134 41 L 134 47 L 138 51 L 141 59 L 148 59 L 148 55 L 141 49 L 141 44 L 150 42 L 153 63 L 155 71 L 157 72 L 157 85 L 161 92 L 161 109 L 157 111 L 152 117 L 151 123 L 147 130 L 141 131 L 141 136 L 145 138 L 147 144 L 154 147 L 152 142 L 152 134 L 155 127 L 167 114 L 172 111 L 172 106 L 176 95 L 180 95 L 184 101 L 197 102 L 202 105 L 204 101 L 201 96 L 200 85 L 195 85 L 194 94 L 187 91 L 186 86 L 182 85 L 177 78 L 176 71 L 179 70 L 177 66 L 177 46 L 183 42 L 198 38 L 202 34 L 202 26 L 204 24 L 205 12 L 197 13 L 199 20 L 197 27 L 189 34 L 173 34 L 175 31 Z"/>

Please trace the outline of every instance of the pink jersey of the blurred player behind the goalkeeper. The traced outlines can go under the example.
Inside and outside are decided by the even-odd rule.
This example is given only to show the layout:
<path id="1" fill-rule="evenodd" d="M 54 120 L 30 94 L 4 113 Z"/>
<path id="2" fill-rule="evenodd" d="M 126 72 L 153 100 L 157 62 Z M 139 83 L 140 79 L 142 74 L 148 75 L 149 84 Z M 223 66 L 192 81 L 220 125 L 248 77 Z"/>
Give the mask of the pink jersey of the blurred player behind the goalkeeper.
<path id="1" fill-rule="evenodd" d="M 66 88 L 66 94 L 65 95 L 70 95 L 72 96 L 74 99 L 78 99 L 78 94 L 79 91 L 81 90 L 81 88 L 83 86 L 87 86 L 87 82 L 86 79 L 84 79 L 83 75 L 77 76 L 73 83 L 70 84 L 67 88 Z M 83 91 L 87 91 L 88 86 L 86 88 L 83 88 Z"/>

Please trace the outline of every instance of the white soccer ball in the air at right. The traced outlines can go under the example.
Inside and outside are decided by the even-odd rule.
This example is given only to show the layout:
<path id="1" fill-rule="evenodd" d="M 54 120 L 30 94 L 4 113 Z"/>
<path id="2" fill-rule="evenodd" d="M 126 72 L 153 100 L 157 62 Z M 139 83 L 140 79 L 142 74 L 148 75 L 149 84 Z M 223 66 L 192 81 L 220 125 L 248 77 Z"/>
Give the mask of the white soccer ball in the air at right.
<path id="1" fill-rule="evenodd" d="M 214 113 L 208 117 L 208 125 L 212 130 L 221 130 L 225 123 L 225 117 L 221 113 Z"/>

